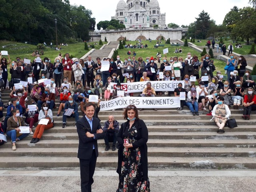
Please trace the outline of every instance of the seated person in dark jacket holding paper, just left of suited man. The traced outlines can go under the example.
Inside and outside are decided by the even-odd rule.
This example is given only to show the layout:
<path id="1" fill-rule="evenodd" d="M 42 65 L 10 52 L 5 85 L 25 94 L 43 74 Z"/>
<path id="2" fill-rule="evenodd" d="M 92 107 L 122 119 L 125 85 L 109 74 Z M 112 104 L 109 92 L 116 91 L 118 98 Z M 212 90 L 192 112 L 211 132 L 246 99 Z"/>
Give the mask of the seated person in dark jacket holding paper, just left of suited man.
<path id="1" fill-rule="evenodd" d="M 62 122 L 63 122 L 62 128 L 66 127 L 66 120 L 67 120 L 67 118 L 74 117 L 75 118 L 75 122 L 77 122 L 79 120 L 78 105 L 73 100 L 72 96 L 68 97 L 68 102 L 66 102 L 65 106 L 64 106 L 64 112 L 66 112 L 68 109 L 72 109 L 73 111 L 72 111 L 72 114 L 70 116 L 65 115 L 65 113 L 63 114 L 63 117 L 62 117 Z"/>

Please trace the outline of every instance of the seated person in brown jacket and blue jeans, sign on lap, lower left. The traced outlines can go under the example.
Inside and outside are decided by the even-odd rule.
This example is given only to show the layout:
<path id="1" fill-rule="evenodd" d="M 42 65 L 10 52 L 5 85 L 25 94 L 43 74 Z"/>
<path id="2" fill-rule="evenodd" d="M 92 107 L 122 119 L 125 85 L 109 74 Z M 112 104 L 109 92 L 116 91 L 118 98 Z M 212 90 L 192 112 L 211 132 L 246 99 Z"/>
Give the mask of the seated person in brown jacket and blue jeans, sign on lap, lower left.
<path id="1" fill-rule="evenodd" d="M 20 134 L 20 126 L 25 126 L 24 120 L 20 117 L 20 111 L 18 109 L 12 110 L 12 117 L 7 121 L 7 132 L 6 135 L 12 138 L 12 150 L 16 150 L 16 141 L 22 140 L 29 133 Z"/>

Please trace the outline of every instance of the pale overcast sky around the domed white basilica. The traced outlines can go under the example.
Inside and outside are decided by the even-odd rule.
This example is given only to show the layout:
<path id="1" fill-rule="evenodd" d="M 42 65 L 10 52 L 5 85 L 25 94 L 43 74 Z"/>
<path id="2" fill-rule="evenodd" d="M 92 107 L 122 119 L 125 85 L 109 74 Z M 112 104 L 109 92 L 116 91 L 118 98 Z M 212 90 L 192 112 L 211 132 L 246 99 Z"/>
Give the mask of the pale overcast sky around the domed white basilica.
<path id="1" fill-rule="evenodd" d="M 70 4 L 83 5 L 92 10 L 92 17 L 96 18 L 96 24 L 102 20 L 111 20 L 111 16 L 116 13 L 118 2 L 119 0 L 70 0 Z M 176 23 L 180 26 L 194 22 L 202 10 L 207 12 L 216 24 L 222 24 L 225 15 L 233 6 L 238 8 L 250 6 L 249 0 L 158 0 L 158 2 L 160 12 L 166 13 L 166 25 Z"/>

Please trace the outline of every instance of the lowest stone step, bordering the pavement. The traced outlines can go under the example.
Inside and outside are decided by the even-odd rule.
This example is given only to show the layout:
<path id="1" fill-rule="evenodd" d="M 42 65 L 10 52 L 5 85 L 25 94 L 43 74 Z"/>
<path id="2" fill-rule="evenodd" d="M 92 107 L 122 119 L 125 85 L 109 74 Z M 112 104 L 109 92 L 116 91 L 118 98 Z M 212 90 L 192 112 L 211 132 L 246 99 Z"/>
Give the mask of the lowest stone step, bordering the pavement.
<path id="1" fill-rule="evenodd" d="M 117 168 L 117 157 L 97 158 L 98 168 Z M 78 168 L 76 157 L 1 157 L 1 168 Z M 149 168 L 256 168 L 251 157 L 148 157 Z"/>

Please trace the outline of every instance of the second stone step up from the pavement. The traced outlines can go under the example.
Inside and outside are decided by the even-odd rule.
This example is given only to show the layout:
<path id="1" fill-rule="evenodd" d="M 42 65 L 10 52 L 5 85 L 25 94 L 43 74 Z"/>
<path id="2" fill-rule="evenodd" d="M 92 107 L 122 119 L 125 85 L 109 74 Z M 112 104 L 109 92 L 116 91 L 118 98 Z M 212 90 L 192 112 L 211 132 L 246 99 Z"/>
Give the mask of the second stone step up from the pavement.
<path id="1" fill-rule="evenodd" d="M 3 148 L 0 151 L 2 157 L 77 157 L 78 148 L 18 148 L 10 152 L 9 148 Z M 116 157 L 118 152 L 110 150 L 105 151 L 104 147 L 98 148 L 101 157 Z M 256 148 L 148 148 L 148 157 L 256 157 Z"/>

